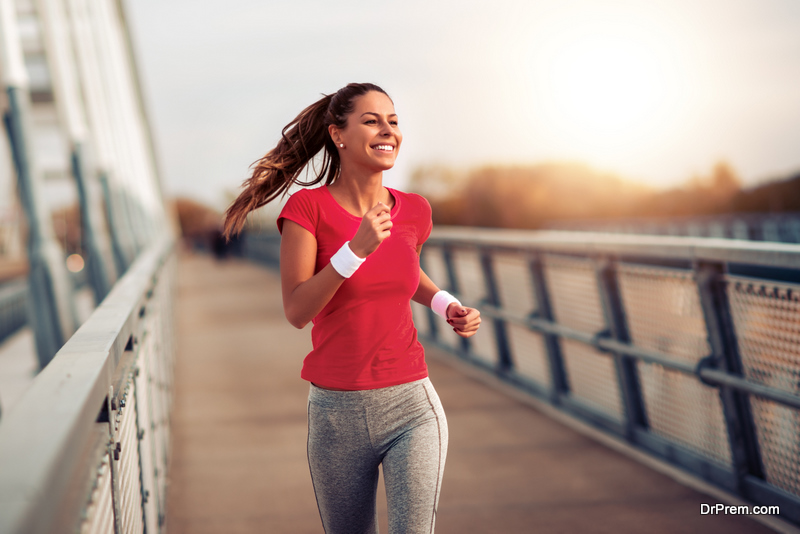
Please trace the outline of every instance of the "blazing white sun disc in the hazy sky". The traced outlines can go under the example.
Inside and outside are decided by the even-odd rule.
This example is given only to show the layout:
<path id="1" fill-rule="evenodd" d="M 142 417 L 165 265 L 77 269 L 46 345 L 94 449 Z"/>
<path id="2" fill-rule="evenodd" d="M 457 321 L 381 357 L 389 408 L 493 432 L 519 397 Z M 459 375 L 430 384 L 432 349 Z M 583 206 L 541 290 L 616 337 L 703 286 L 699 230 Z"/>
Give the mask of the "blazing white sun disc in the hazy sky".
<path id="1" fill-rule="evenodd" d="M 674 22 L 652 12 L 600 16 L 590 9 L 568 24 L 539 27 L 532 45 L 537 119 L 555 156 L 625 168 L 674 144 L 691 100 L 689 55 Z"/>

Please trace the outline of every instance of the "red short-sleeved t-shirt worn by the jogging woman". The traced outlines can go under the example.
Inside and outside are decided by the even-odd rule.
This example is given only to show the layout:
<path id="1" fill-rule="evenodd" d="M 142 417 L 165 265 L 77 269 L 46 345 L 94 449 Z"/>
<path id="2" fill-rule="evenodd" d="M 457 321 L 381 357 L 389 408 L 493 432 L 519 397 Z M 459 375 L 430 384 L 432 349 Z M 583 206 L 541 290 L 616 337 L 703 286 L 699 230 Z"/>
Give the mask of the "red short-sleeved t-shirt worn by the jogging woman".
<path id="1" fill-rule="evenodd" d="M 417 246 L 431 233 L 431 207 L 419 195 L 389 189 L 392 230 L 313 319 L 313 350 L 300 376 L 322 387 L 375 389 L 428 376 L 417 340 L 411 297 L 419 286 Z M 334 200 L 327 186 L 301 189 L 278 216 L 317 239 L 315 273 L 353 238 L 361 224 Z"/>

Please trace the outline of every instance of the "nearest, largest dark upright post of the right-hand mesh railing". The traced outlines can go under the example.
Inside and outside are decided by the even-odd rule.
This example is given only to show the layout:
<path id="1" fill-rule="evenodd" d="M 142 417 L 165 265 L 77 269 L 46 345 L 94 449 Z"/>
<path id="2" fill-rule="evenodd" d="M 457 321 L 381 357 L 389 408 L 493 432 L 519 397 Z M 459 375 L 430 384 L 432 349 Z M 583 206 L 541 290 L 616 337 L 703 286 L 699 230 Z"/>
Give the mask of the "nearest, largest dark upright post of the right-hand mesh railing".
<path id="1" fill-rule="evenodd" d="M 742 364 L 722 280 L 723 269 L 722 265 L 715 263 L 701 262 L 695 266 L 700 304 L 709 345 L 716 357 L 714 363 L 730 373 L 741 375 Z M 720 386 L 719 394 L 728 429 L 734 474 L 741 489 L 746 475 L 763 477 L 755 424 L 746 394 L 727 386 Z"/>

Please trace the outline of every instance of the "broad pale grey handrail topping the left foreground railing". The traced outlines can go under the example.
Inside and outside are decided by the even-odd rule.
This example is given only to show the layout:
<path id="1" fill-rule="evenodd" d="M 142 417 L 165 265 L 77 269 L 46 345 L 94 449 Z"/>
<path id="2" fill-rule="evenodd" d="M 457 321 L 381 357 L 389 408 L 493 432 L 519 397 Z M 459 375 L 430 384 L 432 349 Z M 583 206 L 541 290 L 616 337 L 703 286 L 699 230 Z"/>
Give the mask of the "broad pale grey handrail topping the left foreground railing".
<path id="1" fill-rule="evenodd" d="M 0 532 L 51 532 L 77 520 L 97 450 L 98 421 L 121 392 L 118 381 L 126 348 L 141 326 L 144 306 L 173 251 L 164 237 L 143 251 L 89 319 L 34 379 L 0 422 Z M 116 376 L 115 376 L 116 375 Z M 95 456 L 93 456 L 95 455 Z M 89 464 L 89 465 L 87 465 Z"/>

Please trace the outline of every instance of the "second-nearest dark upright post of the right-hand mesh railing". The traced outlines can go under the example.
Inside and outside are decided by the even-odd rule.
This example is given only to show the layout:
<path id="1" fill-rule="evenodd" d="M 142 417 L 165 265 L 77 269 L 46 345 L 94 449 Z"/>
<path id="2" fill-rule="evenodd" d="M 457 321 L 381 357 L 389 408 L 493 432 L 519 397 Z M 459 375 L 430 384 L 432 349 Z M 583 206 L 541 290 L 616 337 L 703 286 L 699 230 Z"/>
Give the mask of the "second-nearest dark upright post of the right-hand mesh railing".
<path id="1" fill-rule="evenodd" d="M 597 287 L 600 293 L 600 302 L 603 308 L 606 324 L 611 336 L 623 343 L 630 342 L 628 325 L 625 319 L 625 308 L 619 293 L 616 269 L 608 258 L 603 258 L 597 263 Z M 639 375 L 636 362 L 633 358 L 617 353 L 614 356 L 614 366 L 617 371 L 622 401 L 625 406 L 625 433 L 628 439 L 633 437 L 634 429 L 647 426 L 647 417 L 639 386 Z"/>

